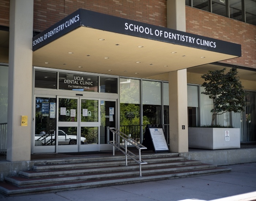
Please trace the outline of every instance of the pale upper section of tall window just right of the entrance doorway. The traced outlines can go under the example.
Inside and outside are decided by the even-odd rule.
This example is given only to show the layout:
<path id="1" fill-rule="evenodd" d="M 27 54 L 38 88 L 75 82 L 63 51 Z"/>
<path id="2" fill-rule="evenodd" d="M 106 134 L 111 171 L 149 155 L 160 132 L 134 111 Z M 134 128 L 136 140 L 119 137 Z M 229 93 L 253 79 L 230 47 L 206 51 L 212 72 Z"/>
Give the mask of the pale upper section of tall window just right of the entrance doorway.
<path id="1" fill-rule="evenodd" d="M 120 103 L 140 103 L 140 80 L 120 78 Z"/>

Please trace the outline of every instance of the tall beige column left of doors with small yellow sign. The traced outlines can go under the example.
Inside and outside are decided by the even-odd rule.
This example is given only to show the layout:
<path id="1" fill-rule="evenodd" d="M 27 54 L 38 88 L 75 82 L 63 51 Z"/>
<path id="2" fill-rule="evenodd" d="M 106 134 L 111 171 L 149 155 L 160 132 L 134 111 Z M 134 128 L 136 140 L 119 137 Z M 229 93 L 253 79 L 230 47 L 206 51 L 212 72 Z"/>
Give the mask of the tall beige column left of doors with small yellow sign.
<path id="1" fill-rule="evenodd" d="M 7 161 L 29 161 L 32 115 L 33 0 L 10 0 Z M 27 126 L 21 126 L 27 116 Z"/>

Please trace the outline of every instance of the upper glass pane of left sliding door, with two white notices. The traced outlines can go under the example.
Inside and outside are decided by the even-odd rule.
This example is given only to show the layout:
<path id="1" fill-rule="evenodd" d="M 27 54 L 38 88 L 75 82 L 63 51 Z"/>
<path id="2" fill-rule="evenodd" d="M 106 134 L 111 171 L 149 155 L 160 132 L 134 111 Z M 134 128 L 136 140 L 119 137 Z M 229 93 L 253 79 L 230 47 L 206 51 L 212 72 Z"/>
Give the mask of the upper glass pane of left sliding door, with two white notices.
<path id="1" fill-rule="evenodd" d="M 77 99 L 59 98 L 59 122 L 77 121 Z"/>

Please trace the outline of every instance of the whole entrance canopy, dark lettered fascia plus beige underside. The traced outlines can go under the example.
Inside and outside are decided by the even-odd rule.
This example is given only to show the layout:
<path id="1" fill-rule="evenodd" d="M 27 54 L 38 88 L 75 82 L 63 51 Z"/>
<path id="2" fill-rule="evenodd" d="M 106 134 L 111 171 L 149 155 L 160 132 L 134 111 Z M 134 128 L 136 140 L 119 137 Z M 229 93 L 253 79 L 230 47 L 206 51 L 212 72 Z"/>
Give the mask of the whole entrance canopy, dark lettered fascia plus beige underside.
<path id="1" fill-rule="evenodd" d="M 33 66 L 160 80 L 239 56 L 238 44 L 84 9 L 33 38 Z"/>

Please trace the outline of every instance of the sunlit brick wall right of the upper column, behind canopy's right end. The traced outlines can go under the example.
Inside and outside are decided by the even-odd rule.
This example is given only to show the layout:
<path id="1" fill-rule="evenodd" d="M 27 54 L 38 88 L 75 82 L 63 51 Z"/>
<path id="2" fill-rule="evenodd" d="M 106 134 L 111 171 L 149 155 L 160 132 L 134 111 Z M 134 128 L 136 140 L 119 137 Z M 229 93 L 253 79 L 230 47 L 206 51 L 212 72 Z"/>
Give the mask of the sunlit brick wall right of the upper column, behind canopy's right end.
<path id="1" fill-rule="evenodd" d="M 242 56 L 222 63 L 256 68 L 256 26 L 186 6 L 186 31 L 241 44 Z"/>

